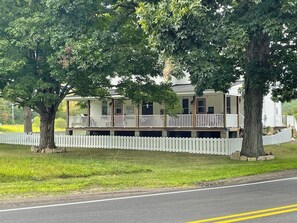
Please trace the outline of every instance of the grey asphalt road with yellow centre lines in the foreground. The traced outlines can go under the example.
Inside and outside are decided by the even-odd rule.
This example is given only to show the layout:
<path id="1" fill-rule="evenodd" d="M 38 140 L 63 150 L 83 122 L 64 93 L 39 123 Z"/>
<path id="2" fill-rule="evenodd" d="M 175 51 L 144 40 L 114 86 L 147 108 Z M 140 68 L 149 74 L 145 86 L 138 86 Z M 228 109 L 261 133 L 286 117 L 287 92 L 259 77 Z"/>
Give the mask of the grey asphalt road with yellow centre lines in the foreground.
<path id="1" fill-rule="evenodd" d="M 252 213 L 240 214 L 245 212 Z M 240 215 L 229 216 L 234 214 Z M 201 221 L 207 218 L 215 219 Z M 198 223 L 239 222 L 242 219 L 245 222 L 297 222 L 297 177 L 226 187 L 0 210 L 1 223 Z"/>

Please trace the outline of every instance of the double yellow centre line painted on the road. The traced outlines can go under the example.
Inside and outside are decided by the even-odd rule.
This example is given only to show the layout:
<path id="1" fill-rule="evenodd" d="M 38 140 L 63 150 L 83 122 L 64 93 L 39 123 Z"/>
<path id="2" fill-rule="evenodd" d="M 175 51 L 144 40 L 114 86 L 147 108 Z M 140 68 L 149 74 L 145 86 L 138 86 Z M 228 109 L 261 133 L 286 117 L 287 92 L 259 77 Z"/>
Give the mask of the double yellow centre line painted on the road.
<path id="1" fill-rule="evenodd" d="M 202 219 L 197 221 L 191 221 L 188 223 L 202 223 L 202 222 L 231 223 L 231 222 L 239 222 L 239 221 L 245 221 L 245 220 L 250 220 L 255 218 L 263 218 L 263 217 L 268 217 L 268 216 L 273 216 L 278 214 L 290 213 L 295 211 L 297 211 L 297 204 L 292 204 L 287 206 L 262 209 L 258 211 L 244 212 L 240 214 L 232 214 L 232 215 L 225 215 L 225 216 L 220 216 L 215 218 L 207 218 L 207 219 Z"/>

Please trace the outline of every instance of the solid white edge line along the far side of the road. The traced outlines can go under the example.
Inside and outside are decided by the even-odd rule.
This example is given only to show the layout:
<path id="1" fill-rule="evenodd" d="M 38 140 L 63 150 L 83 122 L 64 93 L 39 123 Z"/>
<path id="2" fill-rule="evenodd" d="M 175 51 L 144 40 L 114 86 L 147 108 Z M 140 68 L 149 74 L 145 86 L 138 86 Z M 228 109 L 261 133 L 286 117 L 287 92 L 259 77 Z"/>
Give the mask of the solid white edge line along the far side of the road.
<path id="1" fill-rule="evenodd" d="M 127 197 L 107 198 L 107 199 L 100 199 L 100 200 L 77 201 L 77 202 L 68 202 L 68 203 L 61 203 L 61 204 L 48 204 L 48 205 L 40 205 L 40 206 L 30 206 L 30 207 L 21 207 L 21 208 L 2 209 L 2 210 L 0 210 L 0 213 L 3 213 L 3 212 L 12 212 L 12 211 L 24 211 L 24 210 L 32 210 L 32 209 L 41 209 L 41 208 L 72 206 L 72 205 L 80 205 L 80 204 L 92 204 L 92 203 L 101 203 L 101 202 L 127 200 L 127 199 L 137 199 L 137 198 L 146 198 L 146 197 L 157 197 L 157 196 L 164 196 L 164 195 L 183 194 L 183 193 L 200 192 L 200 191 L 221 190 L 221 189 L 229 189 L 229 188 L 236 188 L 236 187 L 246 187 L 246 186 L 268 184 L 268 183 L 276 183 L 276 182 L 290 181 L 290 180 L 297 180 L 297 177 L 290 177 L 290 178 L 283 178 L 283 179 L 276 179 L 276 180 L 267 180 L 267 181 L 254 182 L 254 183 L 229 185 L 229 186 L 221 186 L 221 187 L 198 188 L 198 189 L 192 189 L 192 190 L 190 189 L 190 190 L 184 190 L 184 191 L 171 191 L 171 192 L 161 192 L 161 193 L 154 193 L 154 194 L 143 194 L 143 195 L 135 195 L 135 196 L 127 196 Z"/>

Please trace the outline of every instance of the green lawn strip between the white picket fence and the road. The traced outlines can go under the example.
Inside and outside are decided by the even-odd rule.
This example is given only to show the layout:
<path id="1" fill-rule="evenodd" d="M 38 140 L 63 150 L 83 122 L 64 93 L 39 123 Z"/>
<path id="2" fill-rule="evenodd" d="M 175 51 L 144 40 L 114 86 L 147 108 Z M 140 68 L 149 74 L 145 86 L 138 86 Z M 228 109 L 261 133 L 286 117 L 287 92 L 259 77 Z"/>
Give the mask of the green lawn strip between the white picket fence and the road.
<path id="1" fill-rule="evenodd" d="M 199 182 L 297 168 L 297 143 L 266 147 L 276 159 L 239 162 L 226 156 L 148 151 L 69 149 L 35 154 L 0 145 L 0 198 L 74 191 L 193 187 Z"/>

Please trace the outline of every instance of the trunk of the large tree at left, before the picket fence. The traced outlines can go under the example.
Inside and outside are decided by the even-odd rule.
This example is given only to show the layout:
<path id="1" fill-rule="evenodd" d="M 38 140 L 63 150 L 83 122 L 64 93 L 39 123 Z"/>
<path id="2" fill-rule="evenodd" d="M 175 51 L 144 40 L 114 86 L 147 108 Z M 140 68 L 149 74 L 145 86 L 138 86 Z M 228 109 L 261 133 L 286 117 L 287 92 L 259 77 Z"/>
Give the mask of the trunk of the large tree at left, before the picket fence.
<path id="1" fill-rule="evenodd" d="M 56 111 L 40 113 L 40 143 L 39 151 L 55 149 L 55 117 Z"/>

